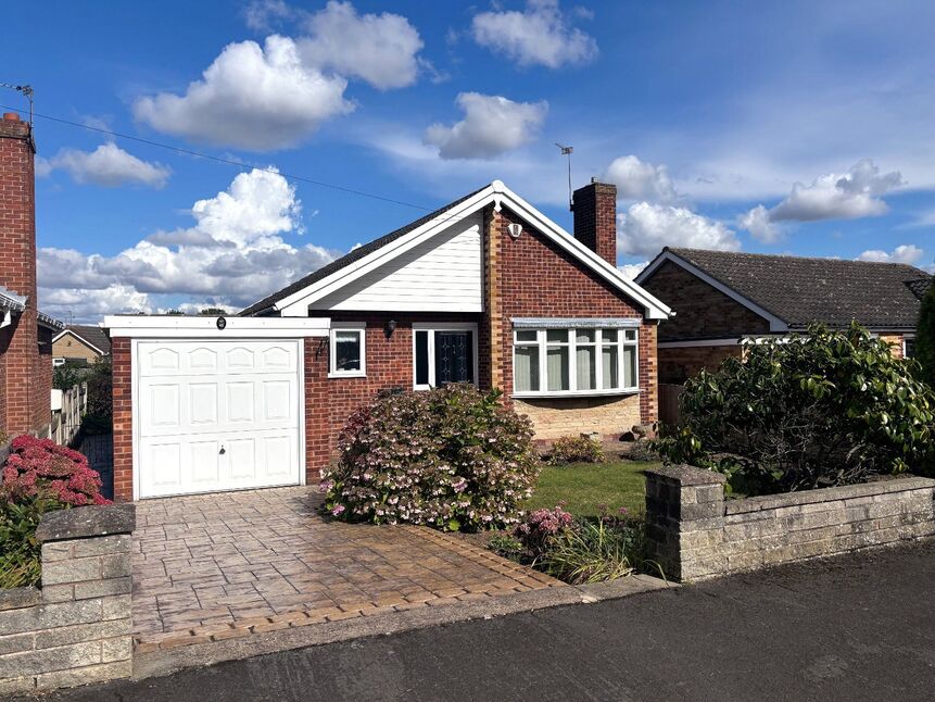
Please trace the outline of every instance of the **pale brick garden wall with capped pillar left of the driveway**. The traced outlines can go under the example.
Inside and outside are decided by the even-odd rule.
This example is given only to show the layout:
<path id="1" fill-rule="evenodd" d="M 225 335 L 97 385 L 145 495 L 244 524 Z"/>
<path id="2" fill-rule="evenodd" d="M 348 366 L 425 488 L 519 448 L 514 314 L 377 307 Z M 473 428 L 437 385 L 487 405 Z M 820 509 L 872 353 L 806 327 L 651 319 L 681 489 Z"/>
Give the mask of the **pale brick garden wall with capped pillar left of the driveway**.
<path id="1" fill-rule="evenodd" d="M 132 505 L 42 517 L 42 587 L 0 590 L 0 697 L 129 677 Z"/>

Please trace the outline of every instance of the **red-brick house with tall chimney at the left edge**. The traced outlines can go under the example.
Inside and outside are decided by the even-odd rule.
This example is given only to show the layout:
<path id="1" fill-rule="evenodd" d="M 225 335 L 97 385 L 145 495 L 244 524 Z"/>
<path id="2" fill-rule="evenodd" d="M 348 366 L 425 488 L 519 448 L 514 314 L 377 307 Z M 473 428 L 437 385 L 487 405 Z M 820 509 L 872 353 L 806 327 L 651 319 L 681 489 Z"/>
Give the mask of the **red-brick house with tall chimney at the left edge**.
<path id="1" fill-rule="evenodd" d="M 36 145 L 14 113 L 0 120 L 0 429 L 48 436 L 52 336 L 36 306 Z"/>

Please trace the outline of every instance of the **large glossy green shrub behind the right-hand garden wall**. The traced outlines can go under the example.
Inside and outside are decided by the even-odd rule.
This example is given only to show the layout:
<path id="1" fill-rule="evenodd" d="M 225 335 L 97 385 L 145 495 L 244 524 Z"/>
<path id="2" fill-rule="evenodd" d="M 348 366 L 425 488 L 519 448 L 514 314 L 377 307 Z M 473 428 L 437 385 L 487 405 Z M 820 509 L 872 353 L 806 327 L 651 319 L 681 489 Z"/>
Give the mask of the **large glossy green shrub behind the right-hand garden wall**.
<path id="1" fill-rule="evenodd" d="M 745 351 L 685 384 L 683 425 L 657 442 L 664 457 L 722 471 L 748 494 L 931 462 L 935 396 L 862 327 L 812 326 Z"/>

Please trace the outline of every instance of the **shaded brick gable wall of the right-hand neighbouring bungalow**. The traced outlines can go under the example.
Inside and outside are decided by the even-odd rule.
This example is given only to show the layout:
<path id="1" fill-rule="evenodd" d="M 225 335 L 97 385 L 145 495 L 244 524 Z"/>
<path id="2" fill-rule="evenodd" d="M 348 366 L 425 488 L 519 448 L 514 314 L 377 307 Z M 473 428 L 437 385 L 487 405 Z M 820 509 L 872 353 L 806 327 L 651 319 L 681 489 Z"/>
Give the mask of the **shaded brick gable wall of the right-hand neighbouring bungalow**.
<path id="1" fill-rule="evenodd" d="M 769 322 L 717 288 L 667 261 L 643 287 L 675 311 L 659 325 L 659 341 L 768 334 Z"/>

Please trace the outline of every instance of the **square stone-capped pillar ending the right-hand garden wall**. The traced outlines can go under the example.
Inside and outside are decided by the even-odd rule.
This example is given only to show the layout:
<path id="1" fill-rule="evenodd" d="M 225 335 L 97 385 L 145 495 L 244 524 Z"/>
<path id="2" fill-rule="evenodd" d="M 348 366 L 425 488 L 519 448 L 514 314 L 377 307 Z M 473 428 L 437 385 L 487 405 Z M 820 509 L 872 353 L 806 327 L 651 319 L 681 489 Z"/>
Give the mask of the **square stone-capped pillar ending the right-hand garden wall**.
<path id="1" fill-rule="evenodd" d="M 710 575 L 724 537 L 724 476 L 690 465 L 646 471 L 646 546 L 677 580 Z"/>

